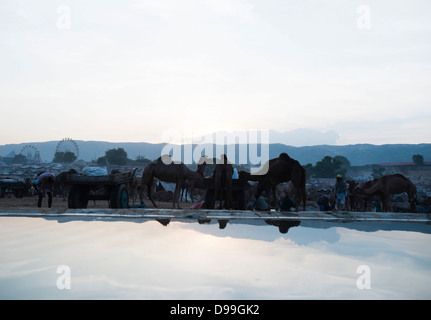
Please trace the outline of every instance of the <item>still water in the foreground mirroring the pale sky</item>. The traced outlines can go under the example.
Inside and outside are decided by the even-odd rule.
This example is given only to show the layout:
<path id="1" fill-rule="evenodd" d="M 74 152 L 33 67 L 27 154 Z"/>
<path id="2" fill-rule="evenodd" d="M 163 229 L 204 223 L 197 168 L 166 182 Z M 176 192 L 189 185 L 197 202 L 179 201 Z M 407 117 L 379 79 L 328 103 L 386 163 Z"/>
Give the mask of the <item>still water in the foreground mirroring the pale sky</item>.
<path id="1" fill-rule="evenodd" d="M 431 298 L 430 234 L 304 225 L 2 217 L 0 298 Z M 59 265 L 71 290 L 56 287 Z"/>

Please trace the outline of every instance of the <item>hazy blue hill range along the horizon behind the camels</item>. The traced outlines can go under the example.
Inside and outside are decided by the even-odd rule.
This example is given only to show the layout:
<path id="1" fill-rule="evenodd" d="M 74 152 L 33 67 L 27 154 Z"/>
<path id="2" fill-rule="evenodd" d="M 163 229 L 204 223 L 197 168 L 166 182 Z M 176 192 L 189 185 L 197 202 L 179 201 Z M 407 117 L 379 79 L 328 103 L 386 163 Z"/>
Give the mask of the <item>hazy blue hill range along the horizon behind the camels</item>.
<path id="1" fill-rule="evenodd" d="M 124 148 L 130 159 L 143 156 L 150 160 L 155 160 L 162 153 L 166 143 L 152 144 L 146 142 L 106 142 L 106 141 L 75 141 L 79 148 L 79 159 L 85 161 L 96 160 L 104 156 L 105 151 L 113 148 Z M 19 154 L 21 150 L 31 145 L 36 148 L 42 161 L 51 161 L 54 157 L 58 141 L 34 142 L 7 144 L 0 146 L 0 156 L 5 157 L 11 152 Z M 205 145 L 200 145 L 201 147 Z M 195 145 L 182 146 L 184 150 L 192 150 Z M 209 147 L 209 145 L 207 146 Z M 236 145 L 235 155 L 238 163 L 239 150 L 243 145 Z M 185 149 L 184 149 L 185 148 Z M 210 148 L 206 149 L 210 150 Z M 213 146 L 214 156 L 218 156 L 216 148 Z M 246 149 L 247 150 L 247 149 Z M 258 151 L 258 155 L 259 155 Z M 313 165 L 325 156 L 345 156 L 351 165 L 366 165 L 377 163 L 411 162 L 414 154 L 421 154 L 425 161 L 431 160 L 431 144 L 355 144 L 355 145 L 314 145 L 314 146 L 288 146 L 280 143 L 269 144 L 269 158 L 277 157 L 281 152 L 286 152 L 292 158 L 297 159 L 301 164 L 312 163 Z M 184 159 L 184 158 L 183 158 Z M 233 159 L 232 159 L 233 160 Z M 232 161 L 231 160 L 231 161 Z M 232 161 L 233 162 L 233 161 Z"/>

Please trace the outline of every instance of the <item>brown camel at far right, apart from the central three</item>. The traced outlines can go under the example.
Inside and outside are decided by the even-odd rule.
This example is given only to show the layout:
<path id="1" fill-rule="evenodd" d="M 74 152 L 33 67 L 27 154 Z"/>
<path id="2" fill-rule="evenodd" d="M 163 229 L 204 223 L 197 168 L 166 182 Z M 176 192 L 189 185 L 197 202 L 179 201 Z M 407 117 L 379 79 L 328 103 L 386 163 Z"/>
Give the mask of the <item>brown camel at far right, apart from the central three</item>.
<path id="1" fill-rule="evenodd" d="M 407 193 L 410 202 L 410 212 L 415 212 L 416 186 L 402 174 L 391 174 L 375 179 L 368 187 L 361 188 L 366 195 L 378 194 L 382 197 L 383 211 L 392 211 L 390 196 L 392 194 Z"/>

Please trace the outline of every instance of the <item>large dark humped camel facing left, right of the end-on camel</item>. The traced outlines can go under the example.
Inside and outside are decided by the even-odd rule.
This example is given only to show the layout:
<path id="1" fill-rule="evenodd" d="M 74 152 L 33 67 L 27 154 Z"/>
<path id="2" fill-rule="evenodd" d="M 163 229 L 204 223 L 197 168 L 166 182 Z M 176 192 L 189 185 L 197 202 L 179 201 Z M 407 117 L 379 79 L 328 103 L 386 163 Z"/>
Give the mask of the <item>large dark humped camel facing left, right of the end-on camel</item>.
<path id="1" fill-rule="evenodd" d="M 269 197 L 270 189 L 272 189 L 273 198 L 276 208 L 278 207 L 276 187 L 283 182 L 291 181 L 296 190 L 296 201 L 298 210 L 299 205 L 303 202 L 303 209 L 305 211 L 306 204 L 306 191 L 305 191 L 305 169 L 301 164 L 289 157 L 286 153 L 281 153 L 278 158 L 269 160 L 261 173 L 251 175 L 248 172 L 241 171 L 240 178 L 251 181 L 259 181 L 263 183 L 266 188 L 267 196 Z"/>

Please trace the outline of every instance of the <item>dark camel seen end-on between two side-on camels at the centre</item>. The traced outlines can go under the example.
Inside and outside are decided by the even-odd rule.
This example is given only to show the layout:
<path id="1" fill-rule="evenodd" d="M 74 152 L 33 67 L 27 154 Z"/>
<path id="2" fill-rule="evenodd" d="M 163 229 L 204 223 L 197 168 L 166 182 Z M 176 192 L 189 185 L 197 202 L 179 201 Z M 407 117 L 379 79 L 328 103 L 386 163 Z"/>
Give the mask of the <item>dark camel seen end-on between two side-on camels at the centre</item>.
<path id="1" fill-rule="evenodd" d="M 221 163 L 217 163 L 214 170 L 214 201 L 215 199 L 220 200 L 219 209 L 222 207 L 224 200 L 224 206 L 226 209 L 232 209 L 232 174 L 233 167 L 229 163 L 226 155 L 220 156 Z M 214 207 L 214 204 L 211 206 Z"/>

